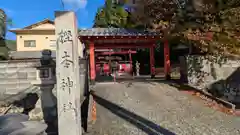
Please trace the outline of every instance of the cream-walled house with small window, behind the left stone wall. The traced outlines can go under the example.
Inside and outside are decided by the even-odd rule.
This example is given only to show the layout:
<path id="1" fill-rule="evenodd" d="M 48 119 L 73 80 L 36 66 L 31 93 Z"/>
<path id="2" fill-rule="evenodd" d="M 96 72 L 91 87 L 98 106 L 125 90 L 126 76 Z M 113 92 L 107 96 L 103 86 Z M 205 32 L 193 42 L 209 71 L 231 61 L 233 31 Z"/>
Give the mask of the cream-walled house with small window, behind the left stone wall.
<path id="1" fill-rule="evenodd" d="M 49 19 L 10 31 L 17 37 L 16 51 L 56 50 L 55 26 Z"/>

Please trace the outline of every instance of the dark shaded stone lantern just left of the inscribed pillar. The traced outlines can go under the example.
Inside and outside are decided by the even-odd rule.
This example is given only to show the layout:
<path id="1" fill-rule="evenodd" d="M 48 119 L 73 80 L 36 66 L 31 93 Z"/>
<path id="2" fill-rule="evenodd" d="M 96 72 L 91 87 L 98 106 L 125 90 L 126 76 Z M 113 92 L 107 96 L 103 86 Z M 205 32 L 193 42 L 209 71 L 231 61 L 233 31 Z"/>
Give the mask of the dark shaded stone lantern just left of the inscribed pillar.
<path id="1" fill-rule="evenodd" d="M 51 50 L 43 50 L 41 57 L 41 67 L 39 68 L 38 77 L 43 69 L 47 68 L 49 71 L 49 78 L 46 80 L 41 79 L 41 83 L 38 84 L 41 90 L 40 101 L 43 119 L 48 124 L 47 132 L 57 129 L 57 99 L 56 99 L 56 88 L 55 88 L 55 74 L 53 74 L 56 65 L 52 60 Z M 54 76 L 53 76 L 54 75 Z M 50 126 L 51 125 L 51 126 Z"/>

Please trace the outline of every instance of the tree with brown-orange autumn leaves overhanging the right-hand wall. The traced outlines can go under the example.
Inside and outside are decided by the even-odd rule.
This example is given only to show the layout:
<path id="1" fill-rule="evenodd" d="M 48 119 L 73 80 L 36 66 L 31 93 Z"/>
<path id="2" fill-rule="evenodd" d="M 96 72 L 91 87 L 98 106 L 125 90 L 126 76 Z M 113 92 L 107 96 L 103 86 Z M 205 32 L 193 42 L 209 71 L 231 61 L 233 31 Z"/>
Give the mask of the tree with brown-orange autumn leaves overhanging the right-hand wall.
<path id="1" fill-rule="evenodd" d="M 239 56 L 239 0 L 140 0 L 135 9 L 137 21 L 146 28 L 180 37 L 211 55 Z M 192 40 L 186 35 L 213 33 L 212 40 Z M 220 53 L 219 53 L 220 52 Z"/>

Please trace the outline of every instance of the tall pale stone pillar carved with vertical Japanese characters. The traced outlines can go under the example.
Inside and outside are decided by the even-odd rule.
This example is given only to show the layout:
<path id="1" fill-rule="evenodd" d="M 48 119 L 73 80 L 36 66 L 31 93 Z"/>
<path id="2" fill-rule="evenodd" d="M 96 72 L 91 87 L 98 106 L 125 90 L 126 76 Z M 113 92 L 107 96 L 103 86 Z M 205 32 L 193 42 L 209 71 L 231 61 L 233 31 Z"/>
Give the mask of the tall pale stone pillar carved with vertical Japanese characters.
<path id="1" fill-rule="evenodd" d="M 59 135 L 81 135 L 78 27 L 74 12 L 55 12 Z"/>

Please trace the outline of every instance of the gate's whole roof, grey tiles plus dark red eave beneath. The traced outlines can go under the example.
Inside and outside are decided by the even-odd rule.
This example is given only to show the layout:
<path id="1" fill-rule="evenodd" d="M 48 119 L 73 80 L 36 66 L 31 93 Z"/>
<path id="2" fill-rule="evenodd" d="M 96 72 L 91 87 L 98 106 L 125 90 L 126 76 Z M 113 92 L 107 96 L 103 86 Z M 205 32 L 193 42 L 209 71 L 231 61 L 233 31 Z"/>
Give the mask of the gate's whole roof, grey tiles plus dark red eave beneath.
<path id="1" fill-rule="evenodd" d="M 90 28 L 80 29 L 79 39 L 82 42 L 106 43 L 154 43 L 163 37 L 162 32 L 125 29 L 125 28 Z"/>

